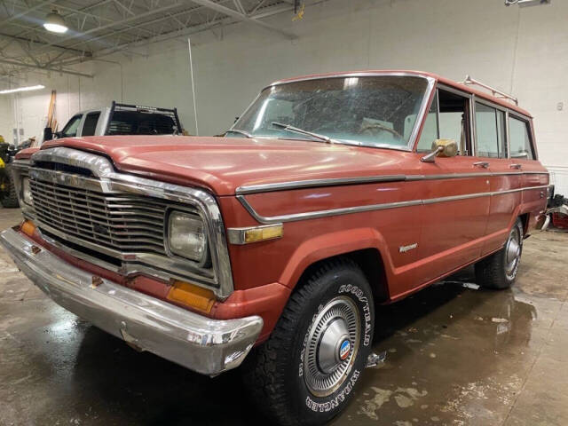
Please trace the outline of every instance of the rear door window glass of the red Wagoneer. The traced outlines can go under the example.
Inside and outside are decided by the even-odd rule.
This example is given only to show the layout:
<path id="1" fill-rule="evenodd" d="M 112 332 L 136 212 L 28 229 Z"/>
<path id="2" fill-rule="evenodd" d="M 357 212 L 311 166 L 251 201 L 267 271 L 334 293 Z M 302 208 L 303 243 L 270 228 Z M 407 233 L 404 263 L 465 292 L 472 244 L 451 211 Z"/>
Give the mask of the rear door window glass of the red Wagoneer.
<path id="1" fill-rule="evenodd" d="M 505 113 L 476 102 L 477 156 L 507 158 Z"/>

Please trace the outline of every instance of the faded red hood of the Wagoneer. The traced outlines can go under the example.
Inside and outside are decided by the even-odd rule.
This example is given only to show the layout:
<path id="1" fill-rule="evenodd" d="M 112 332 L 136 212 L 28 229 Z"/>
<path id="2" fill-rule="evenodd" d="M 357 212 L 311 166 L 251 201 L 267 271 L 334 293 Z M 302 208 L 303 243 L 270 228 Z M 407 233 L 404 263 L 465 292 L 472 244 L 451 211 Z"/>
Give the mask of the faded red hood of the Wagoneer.
<path id="1" fill-rule="evenodd" d="M 67 146 L 105 154 L 117 170 L 232 195 L 242 185 L 399 174 L 401 151 L 272 138 L 104 136 L 62 138 Z"/>

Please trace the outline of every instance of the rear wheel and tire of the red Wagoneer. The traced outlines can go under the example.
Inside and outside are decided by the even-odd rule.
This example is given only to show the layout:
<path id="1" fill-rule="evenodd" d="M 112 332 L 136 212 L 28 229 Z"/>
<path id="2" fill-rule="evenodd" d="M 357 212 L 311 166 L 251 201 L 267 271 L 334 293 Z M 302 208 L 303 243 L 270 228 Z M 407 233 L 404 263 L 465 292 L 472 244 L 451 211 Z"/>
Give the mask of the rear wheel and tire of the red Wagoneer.
<path id="1" fill-rule="evenodd" d="M 517 279 L 523 253 L 523 222 L 517 218 L 501 250 L 475 265 L 477 284 L 485 288 L 510 288 Z"/>

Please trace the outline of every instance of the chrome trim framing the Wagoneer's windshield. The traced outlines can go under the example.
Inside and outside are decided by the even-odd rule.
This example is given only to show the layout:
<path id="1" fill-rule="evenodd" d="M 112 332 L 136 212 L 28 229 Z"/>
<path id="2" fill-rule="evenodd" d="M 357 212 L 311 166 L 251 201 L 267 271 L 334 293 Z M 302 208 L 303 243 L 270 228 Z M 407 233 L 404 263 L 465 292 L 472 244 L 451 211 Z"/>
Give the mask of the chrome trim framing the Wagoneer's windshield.
<path id="1" fill-rule="evenodd" d="M 416 143 L 418 132 L 419 132 L 421 126 L 422 126 L 422 120 L 424 119 L 424 115 L 427 114 L 428 108 L 430 107 L 430 97 L 432 95 L 432 91 L 436 90 L 436 79 L 434 77 L 431 77 L 430 75 L 421 75 L 421 74 L 414 74 L 414 73 L 396 73 L 396 72 L 388 72 L 388 71 L 387 72 L 360 72 L 360 73 L 344 73 L 344 74 L 339 74 L 339 75 L 314 75 L 312 77 L 301 77 L 301 78 L 296 78 L 296 79 L 293 79 L 293 80 L 278 81 L 278 82 L 274 82 L 274 83 L 271 83 L 271 84 L 265 86 L 263 88 L 263 90 L 260 91 L 260 93 L 256 96 L 255 100 L 253 100 L 252 103 L 248 106 L 248 108 L 245 110 L 245 112 L 243 114 L 241 114 L 241 117 L 243 115 L 247 114 L 248 110 L 256 103 L 256 99 L 258 99 L 260 97 L 260 94 L 263 91 L 265 91 L 266 89 L 269 89 L 271 87 L 274 87 L 274 86 L 280 86 L 280 85 L 289 84 L 289 83 L 307 82 L 307 81 L 311 81 L 311 80 L 327 80 L 327 79 L 330 79 L 330 78 L 383 77 L 383 76 L 417 77 L 417 78 L 423 78 L 427 82 L 426 90 L 424 91 L 424 96 L 422 98 L 422 104 L 421 104 L 421 106 L 418 110 L 418 114 L 416 114 L 416 121 L 414 122 L 414 127 L 413 127 L 412 132 L 410 133 L 410 137 L 408 138 L 408 143 L 406 144 L 406 146 L 392 146 L 392 145 L 377 146 L 377 145 L 365 144 L 365 143 L 362 143 L 362 142 L 361 143 L 343 142 L 341 140 L 337 141 L 337 143 L 342 144 L 342 145 L 365 146 L 367 148 L 393 149 L 395 151 L 412 152 L 414 150 L 414 146 L 415 146 L 415 143 Z M 233 124 L 233 126 L 231 126 L 231 129 L 233 129 L 239 121 L 240 120 L 237 120 L 237 122 L 235 122 Z M 256 138 L 264 138 L 264 137 L 258 136 Z M 268 138 L 268 139 L 285 140 L 283 138 Z"/>

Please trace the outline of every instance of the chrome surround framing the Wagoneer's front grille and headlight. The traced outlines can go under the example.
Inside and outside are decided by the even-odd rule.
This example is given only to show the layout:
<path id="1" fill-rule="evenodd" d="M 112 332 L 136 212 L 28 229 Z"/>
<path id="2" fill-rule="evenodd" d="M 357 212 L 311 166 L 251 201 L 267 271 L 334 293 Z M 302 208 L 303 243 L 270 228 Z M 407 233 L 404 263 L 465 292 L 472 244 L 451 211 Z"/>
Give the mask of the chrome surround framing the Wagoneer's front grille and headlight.
<path id="1" fill-rule="evenodd" d="M 37 161 L 59 162 L 88 169 L 98 178 L 84 177 L 56 170 L 34 169 L 34 164 Z M 164 257 L 148 253 L 128 253 L 124 256 L 119 254 L 119 259 L 128 260 L 128 262 L 123 263 L 122 273 L 144 270 L 144 272 L 161 279 L 176 278 L 187 280 L 191 278 L 197 281 L 195 282 L 196 284 L 210 288 L 217 298 L 222 300 L 233 293 L 233 274 L 226 244 L 225 225 L 217 201 L 212 194 L 201 189 L 118 173 L 114 171 L 112 163 L 106 157 L 62 146 L 41 150 L 33 154 L 29 175 L 30 177 L 37 177 L 62 185 L 83 187 L 102 193 L 137 193 L 143 196 L 177 201 L 192 206 L 201 214 L 208 230 L 210 256 L 213 265 L 213 274 L 211 276 L 208 275 L 205 269 L 200 268 L 191 260 L 177 256 Z M 38 222 L 36 217 L 31 216 L 29 218 Z M 81 239 L 70 238 L 69 235 L 62 235 L 62 233 L 53 230 L 49 225 L 43 224 L 41 221 L 37 225 L 45 227 L 46 231 L 61 238 L 66 238 L 69 241 L 106 253 L 109 256 L 117 256 L 117 252 L 114 252 L 112 249 Z M 167 238 L 166 233 L 164 233 L 165 238 Z M 67 250 L 67 248 L 63 249 Z M 78 257 L 83 258 L 83 256 Z M 89 257 L 92 258 L 92 256 Z"/>

